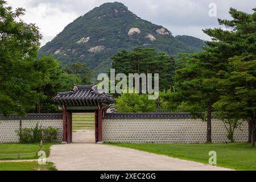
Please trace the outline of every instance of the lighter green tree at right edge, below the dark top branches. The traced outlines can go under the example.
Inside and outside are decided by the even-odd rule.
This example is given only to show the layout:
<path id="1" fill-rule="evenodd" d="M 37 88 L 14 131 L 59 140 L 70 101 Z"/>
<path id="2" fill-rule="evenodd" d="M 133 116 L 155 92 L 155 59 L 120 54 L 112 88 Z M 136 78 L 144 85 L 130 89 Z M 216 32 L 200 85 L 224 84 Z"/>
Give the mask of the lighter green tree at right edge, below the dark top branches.
<path id="1" fill-rule="evenodd" d="M 249 123 L 251 146 L 255 146 L 256 130 L 256 56 L 235 56 L 229 59 L 228 71 L 219 73 L 222 93 L 214 108 L 228 113 L 225 119 L 242 119 Z"/>

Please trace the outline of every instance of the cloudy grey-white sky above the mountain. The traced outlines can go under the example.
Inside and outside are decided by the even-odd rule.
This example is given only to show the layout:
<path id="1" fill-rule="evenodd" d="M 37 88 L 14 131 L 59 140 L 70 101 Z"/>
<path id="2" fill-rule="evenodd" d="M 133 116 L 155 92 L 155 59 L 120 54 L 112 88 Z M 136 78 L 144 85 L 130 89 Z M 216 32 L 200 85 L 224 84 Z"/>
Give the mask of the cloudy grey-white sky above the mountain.
<path id="1" fill-rule="evenodd" d="M 27 23 L 35 23 L 40 28 L 43 46 L 80 15 L 102 3 L 115 1 L 7 0 L 7 3 L 14 8 L 26 9 L 23 20 Z M 230 7 L 251 13 L 251 9 L 256 6 L 255 0 L 119 0 L 118 2 L 124 3 L 130 11 L 142 19 L 168 28 L 173 35 L 191 35 L 204 40 L 210 38 L 204 35 L 202 29 L 218 27 L 217 18 L 230 19 L 228 13 Z M 216 4 L 217 16 L 209 16 L 210 3 Z"/>

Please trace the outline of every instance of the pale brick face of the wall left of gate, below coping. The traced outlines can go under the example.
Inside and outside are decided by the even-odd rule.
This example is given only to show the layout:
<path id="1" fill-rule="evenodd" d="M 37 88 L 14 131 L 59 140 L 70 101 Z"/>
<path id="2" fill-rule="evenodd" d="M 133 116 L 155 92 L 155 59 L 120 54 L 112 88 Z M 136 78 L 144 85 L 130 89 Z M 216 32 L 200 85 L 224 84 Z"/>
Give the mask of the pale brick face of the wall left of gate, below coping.
<path id="1" fill-rule="evenodd" d="M 63 139 L 63 119 L 30 119 L 22 120 L 22 127 L 34 127 L 36 123 L 39 126 L 52 126 L 58 130 L 58 140 Z M 0 143 L 17 143 L 19 137 L 15 133 L 19 129 L 19 120 L 0 120 Z"/>

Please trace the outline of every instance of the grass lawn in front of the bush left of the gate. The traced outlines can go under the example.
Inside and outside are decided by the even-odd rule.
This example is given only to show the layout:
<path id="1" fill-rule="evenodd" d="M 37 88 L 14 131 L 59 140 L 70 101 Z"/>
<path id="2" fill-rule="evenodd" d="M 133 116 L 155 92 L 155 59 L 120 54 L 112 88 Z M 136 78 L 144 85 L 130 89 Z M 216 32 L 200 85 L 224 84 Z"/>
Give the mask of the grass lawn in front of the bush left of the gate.
<path id="1" fill-rule="evenodd" d="M 50 147 L 53 144 L 59 143 L 44 143 L 43 151 L 46 152 L 46 156 L 49 156 Z M 37 144 L 19 144 L 19 143 L 1 143 L 0 144 L 0 160 L 18 160 L 18 153 L 20 153 L 20 159 L 37 159 L 36 151 L 39 151 L 39 143 Z"/>

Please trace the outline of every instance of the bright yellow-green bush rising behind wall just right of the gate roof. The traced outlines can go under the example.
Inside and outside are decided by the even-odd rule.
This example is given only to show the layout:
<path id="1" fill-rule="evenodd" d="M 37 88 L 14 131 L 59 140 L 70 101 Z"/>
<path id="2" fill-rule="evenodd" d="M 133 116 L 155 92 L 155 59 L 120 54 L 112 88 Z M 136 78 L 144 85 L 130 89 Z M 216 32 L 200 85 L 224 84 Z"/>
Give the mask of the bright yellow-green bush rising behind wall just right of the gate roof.
<path id="1" fill-rule="evenodd" d="M 115 99 L 115 107 L 119 113 L 150 113 L 155 112 L 156 100 L 148 100 L 148 94 L 123 93 Z"/>

